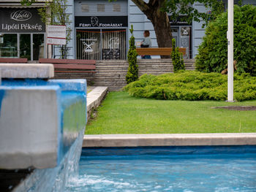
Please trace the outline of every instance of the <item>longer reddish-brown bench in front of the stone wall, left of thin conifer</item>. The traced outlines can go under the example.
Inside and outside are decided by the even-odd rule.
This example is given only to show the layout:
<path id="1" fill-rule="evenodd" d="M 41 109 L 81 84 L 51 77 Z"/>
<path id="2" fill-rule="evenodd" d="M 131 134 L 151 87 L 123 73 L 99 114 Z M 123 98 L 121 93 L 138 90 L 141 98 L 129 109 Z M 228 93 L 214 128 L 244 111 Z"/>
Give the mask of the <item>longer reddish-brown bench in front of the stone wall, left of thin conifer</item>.
<path id="1" fill-rule="evenodd" d="M 56 73 L 95 73 L 95 60 L 39 58 L 39 64 L 53 64 Z"/>

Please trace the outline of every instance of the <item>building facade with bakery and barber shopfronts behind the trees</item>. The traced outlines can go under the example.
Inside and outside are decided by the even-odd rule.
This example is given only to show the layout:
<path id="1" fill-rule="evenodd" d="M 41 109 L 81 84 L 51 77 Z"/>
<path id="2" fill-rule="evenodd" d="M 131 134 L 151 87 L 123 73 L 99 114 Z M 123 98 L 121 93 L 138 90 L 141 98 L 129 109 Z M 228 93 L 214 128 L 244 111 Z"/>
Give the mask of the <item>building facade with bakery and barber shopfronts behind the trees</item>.
<path id="1" fill-rule="evenodd" d="M 244 0 L 244 4 L 256 5 L 256 1 Z M 37 11 L 43 6 L 43 1 L 37 1 L 30 7 L 22 7 L 19 1 L 14 0 L 0 1 L 0 58 L 28 58 L 31 61 L 45 57 L 60 58 L 58 45 L 46 45 L 47 26 Z M 193 7 L 200 12 L 208 12 L 203 4 L 193 4 Z M 154 27 L 131 0 L 68 0 L 67 14 L 72 30 L 67 43 L 67 58 L 126 59 L 131 25 L 134 26 L 136 42 L 140 42 L 143 31 L 148 30 L 152 47 L 157 47 Z M 186 15 L 170 20 L 173 38 L 178 47 L 187 48 L 187 58 L 195 58 L 205 34 L 203 21 L 187 23 L 182 17 Z"/>

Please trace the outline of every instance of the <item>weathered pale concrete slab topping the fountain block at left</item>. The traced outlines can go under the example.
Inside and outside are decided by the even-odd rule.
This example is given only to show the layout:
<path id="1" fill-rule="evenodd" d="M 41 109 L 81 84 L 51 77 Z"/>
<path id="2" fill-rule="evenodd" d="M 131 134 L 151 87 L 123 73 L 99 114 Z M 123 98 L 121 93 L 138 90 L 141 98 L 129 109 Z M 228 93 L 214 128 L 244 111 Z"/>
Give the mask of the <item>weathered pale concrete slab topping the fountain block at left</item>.
<path id="1" fill-rule="evenodd" d="M 50 78 L 53 64 L 0 64 L 1 78 Z"/>

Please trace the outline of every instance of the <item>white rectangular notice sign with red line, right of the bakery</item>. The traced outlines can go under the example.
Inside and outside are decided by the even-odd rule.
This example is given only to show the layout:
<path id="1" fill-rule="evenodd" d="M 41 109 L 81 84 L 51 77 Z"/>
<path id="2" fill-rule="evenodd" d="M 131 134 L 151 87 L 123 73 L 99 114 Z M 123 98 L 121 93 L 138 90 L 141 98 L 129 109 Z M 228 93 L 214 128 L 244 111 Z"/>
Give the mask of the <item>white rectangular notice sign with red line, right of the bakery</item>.
<path id="1" fill-rule="evenodd" d="M 47 43 L 66 45 L 66 26 L 47 26 Z"/>

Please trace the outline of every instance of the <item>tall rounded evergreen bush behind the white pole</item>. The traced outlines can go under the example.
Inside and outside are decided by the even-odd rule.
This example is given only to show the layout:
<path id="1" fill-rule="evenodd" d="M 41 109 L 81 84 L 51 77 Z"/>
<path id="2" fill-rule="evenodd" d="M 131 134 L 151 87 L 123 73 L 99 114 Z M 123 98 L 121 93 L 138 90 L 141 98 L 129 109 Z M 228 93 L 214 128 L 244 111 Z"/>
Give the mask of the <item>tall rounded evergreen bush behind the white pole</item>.
<path id="1" fill-rule="evenodd" d="M 234 7 L 234 60 L 238 73 L 256 76 L 256 7 Z M 227 12 L 209 23 L 198 48 L 196 69 L 222 72 L 227 68 Z"/>

